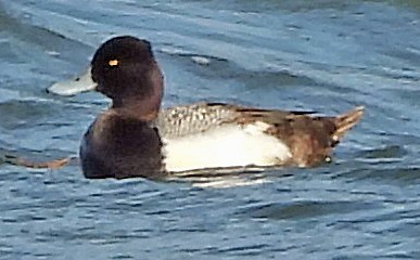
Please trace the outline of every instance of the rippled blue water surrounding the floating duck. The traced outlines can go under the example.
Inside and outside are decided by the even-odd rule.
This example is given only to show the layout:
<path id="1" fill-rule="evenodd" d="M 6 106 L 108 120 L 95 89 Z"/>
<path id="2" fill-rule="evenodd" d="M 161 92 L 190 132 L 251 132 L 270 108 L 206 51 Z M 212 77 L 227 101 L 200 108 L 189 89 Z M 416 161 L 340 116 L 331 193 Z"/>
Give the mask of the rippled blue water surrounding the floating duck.
<path id="1" fill-rule="evenodd" d="M 124 34 L 154 43 L 166 106 L 367 113 L 315 169 L 89 181 L 77 164 L 2 164 L 0 259 L 420 259 L 419 12 L 418 1 L 1 1 L 2 155 L 77 155 L 107 101 L 44 88 Z"/>

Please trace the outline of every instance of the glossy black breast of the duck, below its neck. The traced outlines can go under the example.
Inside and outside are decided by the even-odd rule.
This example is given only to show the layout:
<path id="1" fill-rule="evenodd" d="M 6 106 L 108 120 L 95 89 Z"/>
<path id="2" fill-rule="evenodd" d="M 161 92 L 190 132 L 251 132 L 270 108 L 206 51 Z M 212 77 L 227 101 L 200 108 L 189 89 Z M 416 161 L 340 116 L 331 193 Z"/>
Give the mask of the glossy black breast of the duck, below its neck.
<path id="1" fill-rule="evenodd" d="M 94 121 L 85 133 L 80 158 L 84 174 L 89 179 L 164 176 L 157 130 L 135 119 Z"/>

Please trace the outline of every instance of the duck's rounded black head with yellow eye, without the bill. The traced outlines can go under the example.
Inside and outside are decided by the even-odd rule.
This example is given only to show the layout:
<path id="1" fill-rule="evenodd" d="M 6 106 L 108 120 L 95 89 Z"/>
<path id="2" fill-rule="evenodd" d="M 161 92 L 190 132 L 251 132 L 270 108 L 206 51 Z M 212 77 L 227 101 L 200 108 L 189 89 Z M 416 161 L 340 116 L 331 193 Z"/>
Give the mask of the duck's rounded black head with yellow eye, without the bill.
<path id="1" fill-rule="evenodd" d="M 131 36 L 112 38 L 94 53 L 91 67 L 97 90 L 112 99 L 114 107 L 140 101 L 160 105 L 163 76 L 149 41 Z"/>

